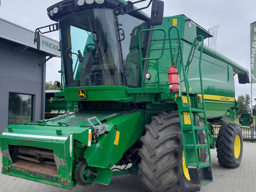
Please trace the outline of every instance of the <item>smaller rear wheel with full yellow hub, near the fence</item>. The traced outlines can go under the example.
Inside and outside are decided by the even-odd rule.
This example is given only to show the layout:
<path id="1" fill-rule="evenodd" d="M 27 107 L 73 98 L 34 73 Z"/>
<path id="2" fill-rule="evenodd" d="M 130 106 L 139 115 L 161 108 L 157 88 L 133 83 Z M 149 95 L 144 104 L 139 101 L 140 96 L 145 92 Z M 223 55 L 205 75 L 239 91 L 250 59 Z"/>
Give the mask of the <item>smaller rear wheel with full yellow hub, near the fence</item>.
<path id="1" fill-rule="evenodd" d="M 233 123 L 223 124 L 216 148 L 220 166 L 232 169 L 238 167 L 243 156 L 243 135 L 240 127 Z"/>

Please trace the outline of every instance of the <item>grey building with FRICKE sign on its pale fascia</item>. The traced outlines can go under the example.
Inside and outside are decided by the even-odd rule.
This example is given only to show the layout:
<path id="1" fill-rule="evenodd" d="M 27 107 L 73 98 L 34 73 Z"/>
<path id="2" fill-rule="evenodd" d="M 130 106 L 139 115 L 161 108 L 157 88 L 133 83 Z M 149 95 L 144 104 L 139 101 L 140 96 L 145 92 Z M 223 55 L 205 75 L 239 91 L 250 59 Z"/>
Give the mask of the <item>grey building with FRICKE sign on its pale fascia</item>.
<path id="1" fill-rule="evenodd" d="M 3 132 L 8 124 L 44 119 L 45 65 L 47 59 L 60 53 L 56 48 L 58 41 L 41 36 L 41 45 L 48 42 L 52 46 L 42 46 L 39 51 L 33 44 L 33 31 L 2 19 L 0 26 L 0 132 Z"/>

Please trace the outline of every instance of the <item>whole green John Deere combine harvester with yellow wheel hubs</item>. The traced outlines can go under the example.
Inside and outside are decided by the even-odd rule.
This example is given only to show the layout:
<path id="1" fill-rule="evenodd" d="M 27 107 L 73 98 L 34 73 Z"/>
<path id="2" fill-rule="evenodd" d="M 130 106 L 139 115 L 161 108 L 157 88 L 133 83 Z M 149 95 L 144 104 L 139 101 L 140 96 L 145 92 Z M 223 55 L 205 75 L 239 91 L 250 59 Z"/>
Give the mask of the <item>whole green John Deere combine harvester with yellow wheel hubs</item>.
<path id="1" fill-rule="evenodd" d="M 204 46 L 212 37 L 185 15 L 163 17 L 164 2 L 64 0 L 58 22 L 64 96 L 79 110 L 9 125 L 0 136 L 2 174 L 72 189 L 142 174 L 149 192 L 199 191 L 212 182 L 210 149 L 236 168 L 243 137 L 234 121 L 234 76 L 248 71 Z M 221 124 L 218 141 L 213 124 Z M 127 165 L 131 164 L 129 168 Z M 115 166 L 124 165 L 120 169 Z M 86 190 L 86 189 L 85 189 Z"/>

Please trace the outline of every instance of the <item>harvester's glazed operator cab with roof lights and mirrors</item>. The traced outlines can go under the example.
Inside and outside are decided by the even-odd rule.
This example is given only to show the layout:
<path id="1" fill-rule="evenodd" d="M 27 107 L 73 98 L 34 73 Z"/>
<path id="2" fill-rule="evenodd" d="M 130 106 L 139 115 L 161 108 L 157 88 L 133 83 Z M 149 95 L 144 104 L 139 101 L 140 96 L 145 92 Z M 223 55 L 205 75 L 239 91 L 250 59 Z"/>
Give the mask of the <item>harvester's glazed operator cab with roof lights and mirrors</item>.
<path id="1" fill-rule="evenodd" d="M 154 2 L 156 6 L 159 0 Z M 150 18 L 134 10 L 136 2 L 125 3 L 65 0 L 47 9 L 49 18 L 58 22 L 64 87 L 140 86 L 138 34 L 150 28 Z M 159 4 L 163 6 L 162 1 Z M 162 20 L 161 14 L 158 20 Z M 140 40 L 143 56 L 148 32 L 142 33 Z"/>

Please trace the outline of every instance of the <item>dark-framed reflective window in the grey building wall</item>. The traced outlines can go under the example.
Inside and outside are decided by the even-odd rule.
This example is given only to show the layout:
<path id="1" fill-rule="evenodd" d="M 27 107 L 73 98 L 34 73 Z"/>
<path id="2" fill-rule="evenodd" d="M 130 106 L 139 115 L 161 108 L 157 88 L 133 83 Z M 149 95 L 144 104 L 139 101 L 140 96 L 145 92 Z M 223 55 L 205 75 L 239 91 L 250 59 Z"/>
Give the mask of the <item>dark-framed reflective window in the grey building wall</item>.
<path id="1" fill-rule="evenodd" d="M 32 95 L 9 93 L 8 125 L 32 120 Z"/>

